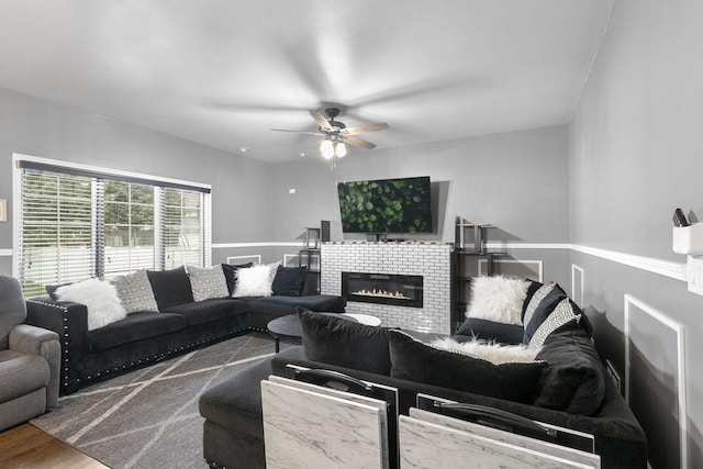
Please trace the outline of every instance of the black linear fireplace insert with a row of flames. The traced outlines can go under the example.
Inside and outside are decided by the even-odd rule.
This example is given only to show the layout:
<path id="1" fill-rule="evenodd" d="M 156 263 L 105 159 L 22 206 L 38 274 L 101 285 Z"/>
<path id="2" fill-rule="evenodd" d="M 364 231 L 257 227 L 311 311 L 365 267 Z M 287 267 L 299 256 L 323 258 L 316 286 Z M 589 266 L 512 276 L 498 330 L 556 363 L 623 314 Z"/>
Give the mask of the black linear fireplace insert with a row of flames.
<path id="1" fill-rule="evenodd" d="M 342 272 L 342 295 L 347 301 L 423 308 L 422 292 L 422 276 Z"/>

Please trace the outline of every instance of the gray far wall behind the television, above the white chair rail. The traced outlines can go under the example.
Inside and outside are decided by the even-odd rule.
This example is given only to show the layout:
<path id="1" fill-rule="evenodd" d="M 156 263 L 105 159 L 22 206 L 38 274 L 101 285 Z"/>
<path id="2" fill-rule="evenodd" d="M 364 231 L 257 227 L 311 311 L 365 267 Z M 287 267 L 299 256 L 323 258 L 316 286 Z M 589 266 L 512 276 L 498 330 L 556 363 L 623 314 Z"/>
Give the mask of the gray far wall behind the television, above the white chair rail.
<path id="1" fill-rule="evenodd" d="M 305 226 L 330 220 L 333 239 L 342 239 L 337 181 L 429 176 L 439 186 L 443 220 L 437 234 L 426 237 L 454 241 L 459 215 L 496 225 L 493 237 L 503 241 L 566 243 L 567 152 L 567 129 L 557 126 L 391 150 L 354 148 L 334 170 L 316 156 L 277 164 L 276 238 L 293 239 Z"/>

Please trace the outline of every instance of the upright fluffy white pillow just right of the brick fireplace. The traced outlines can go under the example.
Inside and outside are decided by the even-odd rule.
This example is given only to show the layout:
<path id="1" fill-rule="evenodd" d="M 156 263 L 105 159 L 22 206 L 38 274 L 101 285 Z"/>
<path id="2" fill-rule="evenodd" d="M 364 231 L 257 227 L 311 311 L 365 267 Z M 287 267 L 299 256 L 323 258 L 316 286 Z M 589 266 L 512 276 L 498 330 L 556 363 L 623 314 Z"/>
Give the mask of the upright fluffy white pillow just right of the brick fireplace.
<path id="1" fill-rule="evenodd" d="M 529 282 L 509 277 L 475 277 L 466 316 L 522 325 L 523 303 Z"/>

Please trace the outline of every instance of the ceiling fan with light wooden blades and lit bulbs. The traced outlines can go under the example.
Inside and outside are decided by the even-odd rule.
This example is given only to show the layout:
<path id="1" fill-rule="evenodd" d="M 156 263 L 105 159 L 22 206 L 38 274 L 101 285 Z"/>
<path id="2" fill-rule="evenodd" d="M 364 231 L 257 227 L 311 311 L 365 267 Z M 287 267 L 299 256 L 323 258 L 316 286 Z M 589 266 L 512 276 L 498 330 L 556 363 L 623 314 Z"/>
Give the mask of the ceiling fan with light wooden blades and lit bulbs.
<path id="1" fill-rule="evenodd" d="M 346 155 L 346 146 L 344 144 L 359 146 L 361 148 L 371 149 L 376 144 L 359 138 L 355 135 L 366 134 L 369 132 L 384 131 L 389 129 L 386 122 L 376 124 L 365 124 L 354 127 L 347 127 L 343 122 L 335 121 L 334 118 L 339 115 L 339 108 L 325 109 L 325 115 L 319 111 L 309 111 L 312 119 L 317 123 L 317 132 L 309 131 L 288 131 L 283 129 L 271 129 L 275 132 L 294 132 L 297 134 L 319 135 L 320 150 L 325 158 L 333 156 L 342 157 Z"/>

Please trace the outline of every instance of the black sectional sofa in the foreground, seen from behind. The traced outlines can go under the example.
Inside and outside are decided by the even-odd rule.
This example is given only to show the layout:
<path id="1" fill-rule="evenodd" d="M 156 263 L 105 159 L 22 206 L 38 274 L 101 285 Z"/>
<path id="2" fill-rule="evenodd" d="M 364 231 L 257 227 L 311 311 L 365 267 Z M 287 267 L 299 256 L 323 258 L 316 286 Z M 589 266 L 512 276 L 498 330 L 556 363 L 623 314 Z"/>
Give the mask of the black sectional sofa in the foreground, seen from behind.
<path id="1" fill-rule="evenodd" d="M 566 294 L 559 292 L 563 293 L 557 287 L 546 295 L 543 303 L 547 309 L 555 309 L 557 303 L 567 309 L 572 306 L 570 300 L 565 300 Z M 556 321 L 558 325 L 546 336 L 536 357 L 540 365 L 526 365 L 542 367 L 536 376 L 511 381 L 513 371 L 494 379 L 490 375 L 493 371 L 486 375 L 483 370 L 490 365 L 476 367 L 470 358 L 467 365 L 465 357 L 437 350 L 397 331 L 301 311 L 302 346 L 253 364 L 201 395 L 200 414 L 205 418 L 204 457 L 212 467 L 265 467 L 260 381 L 271 373 L 286 376 L 287 365 L 292 364 L 397 387 L 403 414 L 415 404 L 417 393 L 426 393 L 585 432 L 594 435 L 595 453 L 601 456 L 603 468 L 645 469 L 645 434 L 606 377 L 590 338 L 587 317 L 580 310 L 571 319 Z M 537 311 L 534 315 L 537 322 L 549 317 L 540 317 L 540 314 Z M 468 319 L 454 338 L 464 342 L 478 336 L 507 344 L 522 343 L 526 332 L 528 335 L 537 333 L 537 322 L 529 322 L 535 327 L 531 330 L 523 325 Z M 436 338 L 412 332 L 410 335 L 425 342 Z M 521 372 L 522 377 L 528 376 L 513 364 L 506 369 Z"/>

